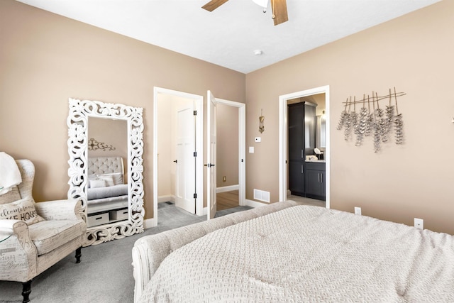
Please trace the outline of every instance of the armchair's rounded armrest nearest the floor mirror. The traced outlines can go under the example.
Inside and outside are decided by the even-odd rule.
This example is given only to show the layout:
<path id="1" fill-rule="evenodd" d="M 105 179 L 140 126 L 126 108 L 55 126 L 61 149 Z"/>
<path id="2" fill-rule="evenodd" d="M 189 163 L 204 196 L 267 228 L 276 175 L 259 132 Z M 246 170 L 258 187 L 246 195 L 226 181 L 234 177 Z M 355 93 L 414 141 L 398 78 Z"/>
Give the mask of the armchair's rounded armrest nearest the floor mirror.
<path id="1" fill-rule="evenodd" d="M 36 212 L 45 220 L 82 220 L 80 200 L 55 200 L 38 202 Z"/>

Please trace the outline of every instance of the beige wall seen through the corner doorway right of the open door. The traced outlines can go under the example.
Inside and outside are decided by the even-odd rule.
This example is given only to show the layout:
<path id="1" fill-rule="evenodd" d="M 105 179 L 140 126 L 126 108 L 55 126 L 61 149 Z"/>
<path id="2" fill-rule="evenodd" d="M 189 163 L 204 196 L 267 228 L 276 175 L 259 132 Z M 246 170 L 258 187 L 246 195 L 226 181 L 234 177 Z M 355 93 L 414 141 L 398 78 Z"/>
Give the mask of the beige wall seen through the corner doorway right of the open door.
<path id="1" fill-rule="evenodd" d="M 223 177 L 226 182 L 223 182 Z M 216 186 L 238 184 L 238 107 L 216 105 Z"/>

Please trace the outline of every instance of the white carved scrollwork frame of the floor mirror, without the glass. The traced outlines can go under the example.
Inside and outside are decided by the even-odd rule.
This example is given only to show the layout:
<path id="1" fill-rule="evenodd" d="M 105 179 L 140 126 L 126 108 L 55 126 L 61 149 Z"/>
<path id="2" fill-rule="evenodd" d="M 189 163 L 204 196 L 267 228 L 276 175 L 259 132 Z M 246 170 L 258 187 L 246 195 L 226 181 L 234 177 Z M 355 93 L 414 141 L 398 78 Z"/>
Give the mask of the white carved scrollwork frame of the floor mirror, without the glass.
<path id="1" fill-rule="evenodd" d="M 69 99 L 68 126 L 68 199 L 82 200 L 87 221 L 88 118 L 123 119 L 128 122 L 128 220 L 87 228 L 84 246 L 95 245 L 143 232 L 143 109 L 102 101 Z"/>

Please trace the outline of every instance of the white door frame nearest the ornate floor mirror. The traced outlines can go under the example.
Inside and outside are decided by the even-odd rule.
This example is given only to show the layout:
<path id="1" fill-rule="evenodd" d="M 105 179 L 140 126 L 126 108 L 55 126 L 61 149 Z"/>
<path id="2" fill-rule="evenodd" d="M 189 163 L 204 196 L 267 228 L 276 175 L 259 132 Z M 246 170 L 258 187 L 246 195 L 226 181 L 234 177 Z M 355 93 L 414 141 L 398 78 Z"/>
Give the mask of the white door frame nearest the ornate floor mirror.
<path id="1" fill-rule="evenodd" d="M 204 97 L 196 94 L 178 92 L 172 89 L 154 87 L 153 89 L 153 219 L 147 220 L 145 228 L 157 226 L 157 99 L 159 94 L 193 99 L 196 104 L 196 214 L 204 212 Z"/>

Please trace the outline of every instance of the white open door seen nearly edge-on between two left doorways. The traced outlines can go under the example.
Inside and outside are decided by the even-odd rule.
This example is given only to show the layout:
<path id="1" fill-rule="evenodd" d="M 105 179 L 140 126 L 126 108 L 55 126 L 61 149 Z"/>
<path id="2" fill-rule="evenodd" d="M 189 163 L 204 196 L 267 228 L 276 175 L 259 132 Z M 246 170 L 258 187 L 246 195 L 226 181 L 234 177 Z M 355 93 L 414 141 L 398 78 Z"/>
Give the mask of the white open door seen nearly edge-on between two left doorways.
<path id="1" fill-rule="evenodd" d="M 213 219 L 216 214 L 216 99 L 208 91 L 206 102 L 207 123 L 206 138 L 206 205 L 208 206 L 207 219 Z"/>

